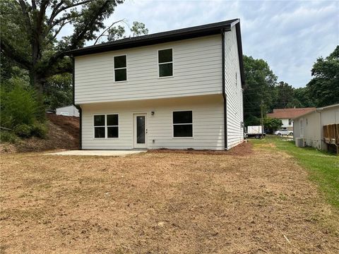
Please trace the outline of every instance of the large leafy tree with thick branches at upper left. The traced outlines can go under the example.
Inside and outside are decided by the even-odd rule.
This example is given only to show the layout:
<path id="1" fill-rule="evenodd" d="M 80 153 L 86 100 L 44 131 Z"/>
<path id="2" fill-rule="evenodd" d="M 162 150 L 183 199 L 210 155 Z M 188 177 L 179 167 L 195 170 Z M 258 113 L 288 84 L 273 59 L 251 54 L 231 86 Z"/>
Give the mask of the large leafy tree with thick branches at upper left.
<path id="1" fill-rule="evenodd" d="M 42 94 L 46 80 L 71 72 L 66 52 L 83 47 L 105 28 L 104 20 L 124 0 L 5 0 L 1 8 L 1 53 L 28 71 Z M 58 40 L 65 25 L 73 33 Z"/>

